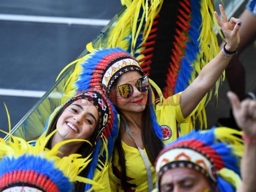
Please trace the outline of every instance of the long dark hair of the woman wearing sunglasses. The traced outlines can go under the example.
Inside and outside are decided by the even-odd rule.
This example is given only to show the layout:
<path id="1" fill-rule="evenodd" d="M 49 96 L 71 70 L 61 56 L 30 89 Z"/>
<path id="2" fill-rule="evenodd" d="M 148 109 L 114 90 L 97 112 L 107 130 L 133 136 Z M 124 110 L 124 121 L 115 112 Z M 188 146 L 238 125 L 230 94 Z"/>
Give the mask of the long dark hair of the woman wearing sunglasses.
<path id="1" fill-rule="evenodd" d="M 118 79 L 112 84 L 112 87 L 110 89 L 110 95 L 109 99 L 113 103 L 113 105 L 116 107 L 116 84 L 118 82 Z M 154 132 L 153 126 L 152 126 L 152 121 L 150 118 L 150 104 L 149 104 L 149 94 L 147 94 L 147 103 L 146 103 L 146 108 L 143 111 L 143 121 L 142 121 L 142 142 L 145 146 L 146 149 L 146 154 L 148 156 L 148 159 L 152 165 L 154 165 L 155 160 L 158 156 L 158 153 L 160 150 L 163 148 L 163 143 L 162 141 L 158 138 L 156 133 Z M 116 110 L 120 115 L 122 113 L 118 108 L 116 107 Z M 124 121 L 122 120 L 122 116 L 120 116 L 120 123 L 121 125 L 124 124 Z M 121 169 L 121 182 L 122 182 L 122 187 L 124 191 L 127 189 L 126 185 L 126 165 L 125 165 L 125 152 L 122 148 L 122 132 L 124 130 L 122 128 L 119 129 L 119 135 L 115 141 L 114 144 L 114 150 L 113 150 L 113 157 L 112 157 L 112 163 L 115 161 L 115 154 L 117 153 L 119 157 L 119 166 Z"/>

